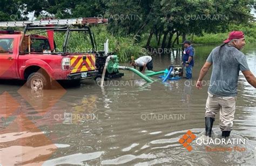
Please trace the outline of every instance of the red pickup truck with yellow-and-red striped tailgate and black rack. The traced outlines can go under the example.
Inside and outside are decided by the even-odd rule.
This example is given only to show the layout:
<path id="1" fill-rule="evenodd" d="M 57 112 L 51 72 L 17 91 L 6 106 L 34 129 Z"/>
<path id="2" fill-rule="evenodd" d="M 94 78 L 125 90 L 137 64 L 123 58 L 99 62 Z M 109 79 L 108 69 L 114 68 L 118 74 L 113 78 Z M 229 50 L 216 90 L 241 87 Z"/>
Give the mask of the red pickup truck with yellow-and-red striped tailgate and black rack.
<path id="1" fill-rule="evenodd" d="M 26 34 L 28 30 L 46 30 L 48 36 Z M 57 52 L 53 32 L 64 31 L 63 50 Z M 86 31 L 90 52 L 72 53 L 67 49 L 72 31 Z M 72 29 L 26 25 L 24 32 L 0 31 L 0 79 L 26 80 L 31 89 L 49 88 L 52 80 L 80 81 L 97 75 L 96 52 L 89 27 Z"/>

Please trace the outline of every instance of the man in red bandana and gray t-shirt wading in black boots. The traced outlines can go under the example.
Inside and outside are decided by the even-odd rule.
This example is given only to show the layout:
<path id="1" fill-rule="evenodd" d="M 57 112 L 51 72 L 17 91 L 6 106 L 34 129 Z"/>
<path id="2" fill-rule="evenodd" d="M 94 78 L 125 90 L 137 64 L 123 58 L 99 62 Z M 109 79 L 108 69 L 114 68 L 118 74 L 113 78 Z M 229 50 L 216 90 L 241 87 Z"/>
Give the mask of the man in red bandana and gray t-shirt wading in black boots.
<path id="1" fill-rule="evenodd" d="M 256 78 L 248 67 L 245 55 L 240 51 L 244 46 L 244 33 L 230 32 L 224 44 L 212 50 L 200 71 L 196 84 L 198 89 L 202 88 L 202 80 L 208 69 L 213 66 L 205 107 L 206 136 L 211 137 L 213 121 L 218 112 L 222 136 L 230 136 L 233 129 L 239 71 L 244 74 L 247 82 L 256 88 Z"/>

